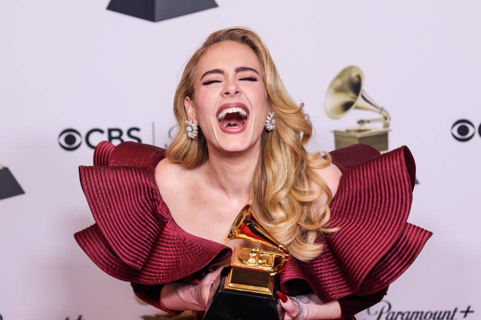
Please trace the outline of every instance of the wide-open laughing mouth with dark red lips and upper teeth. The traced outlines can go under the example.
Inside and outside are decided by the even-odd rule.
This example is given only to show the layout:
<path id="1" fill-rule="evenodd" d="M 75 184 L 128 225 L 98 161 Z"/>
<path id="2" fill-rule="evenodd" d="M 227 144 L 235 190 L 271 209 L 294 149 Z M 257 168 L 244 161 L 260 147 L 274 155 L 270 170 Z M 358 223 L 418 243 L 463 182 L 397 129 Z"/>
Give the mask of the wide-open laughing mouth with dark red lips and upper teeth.
<path id="1" fill-rule="evenodd" d="M 248 119 L 249 111 L 243 103 L 223 104 L 217 111 L 217 122 L 226 133 L 244 131 Z"/>

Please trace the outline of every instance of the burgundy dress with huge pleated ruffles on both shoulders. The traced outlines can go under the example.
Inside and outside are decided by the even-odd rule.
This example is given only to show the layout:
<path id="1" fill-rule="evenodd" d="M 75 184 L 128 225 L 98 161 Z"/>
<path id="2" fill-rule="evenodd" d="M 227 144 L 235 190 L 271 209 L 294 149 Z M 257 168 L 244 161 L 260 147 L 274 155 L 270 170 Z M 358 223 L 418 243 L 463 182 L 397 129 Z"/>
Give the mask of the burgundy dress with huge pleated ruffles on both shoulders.
<path id="1" fill-rule="evenodd" d="M 357 144 L 330 154 L 342 176 L 329 225 L 340 230 L 318 238 L 325 249 L 317 258 L 293 258 L 280 273 L 280 285 L 290 295 L 314 291 L 323 301 L 338 299 L 343 318 L 354 318 L 382 299 L 432 233 L 406 221 L 415 181 L 406 146 L 380 155 Z M 94 165 L 79 167 L 96 223 L 75 238 L 102 270 L 130 281 L 146 302 L 175 313 L 159 299 L 162 285 L 197 283 L 232 250 L 174 221 L 155 182 L 155 166 L 164 157 L 165 150 L 153 145 L 101 142 Z"/>

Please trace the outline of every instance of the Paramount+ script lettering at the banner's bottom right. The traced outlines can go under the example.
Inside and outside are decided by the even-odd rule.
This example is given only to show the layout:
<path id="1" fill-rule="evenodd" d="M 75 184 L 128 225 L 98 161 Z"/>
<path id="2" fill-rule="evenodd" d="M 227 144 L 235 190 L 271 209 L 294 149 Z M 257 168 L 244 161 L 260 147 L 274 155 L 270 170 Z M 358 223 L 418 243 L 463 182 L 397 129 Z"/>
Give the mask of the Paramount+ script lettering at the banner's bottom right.
<path id="1" fill-rule="evenodd" d="M 459 314 L 460 313 L 460 314 Z M 456 320 L 458 316 L 466 318 L 474 310 L 468 305 L 465 308 L 454 307 L 448 310 L 393 310 L 390 302 L 382 300 L 367 309 L 367 314 L 376 320 Z M 366 319 L 363 319 L 366 320 Z"/>

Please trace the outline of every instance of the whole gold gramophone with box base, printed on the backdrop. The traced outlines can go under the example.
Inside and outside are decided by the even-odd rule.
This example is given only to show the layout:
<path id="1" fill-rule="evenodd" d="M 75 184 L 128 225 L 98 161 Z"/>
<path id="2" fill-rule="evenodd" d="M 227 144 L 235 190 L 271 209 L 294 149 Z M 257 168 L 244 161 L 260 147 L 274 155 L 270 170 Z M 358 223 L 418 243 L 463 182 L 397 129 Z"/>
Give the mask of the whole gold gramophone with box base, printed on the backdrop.
<path id="1" fill-rule="evenodd" d="M 337 119 L 356 108 L 376 111 L 382 115 L 376 119 L 360 119 L 357 126 L 334 130 L 335 147 L 338 149 L 355 143 L 364 143 L 385 152 L 388 149 L 387 133 L 391 117 L 386 109 L 367 95 L 363 84 L 362 70 L 354 65 L 339 72 L 329 84 L 324 99 L 324 109 L 329 117 Z M 365 126 L 365 123 L 370 122 L 383 122 L 383 126 Z"/>

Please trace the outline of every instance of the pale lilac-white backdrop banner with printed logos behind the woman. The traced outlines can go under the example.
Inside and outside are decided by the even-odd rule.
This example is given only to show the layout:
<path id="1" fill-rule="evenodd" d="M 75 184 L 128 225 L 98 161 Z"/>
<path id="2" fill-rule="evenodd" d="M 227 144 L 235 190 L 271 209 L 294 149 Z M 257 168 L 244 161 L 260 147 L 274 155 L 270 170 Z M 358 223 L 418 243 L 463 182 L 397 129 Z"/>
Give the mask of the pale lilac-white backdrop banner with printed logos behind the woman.
<path id="1" fill-rule="evenodd" d="M 262 36 L 290 94 L 305 103 L 316 129 L 311 150 L 334 149 L 334 130 L 377 117 L 325 113 L 331 80 L 357 65 L 390 114 L 389 149 L 406 144 L 415 157 L 409 221 L 434 235 L 358 318 L 479 318 L 478 1 L 145 0 L 155 3 L 150 11 L 127 2 L 26 0 L 0 9 L 0 319 L 158 311 L 76 244 L 73 233 L 94 222 L 77 166 L 92 164 L 101 140 L 167 145 L 183 66 L 209 33 L 233 25 Z"/>

